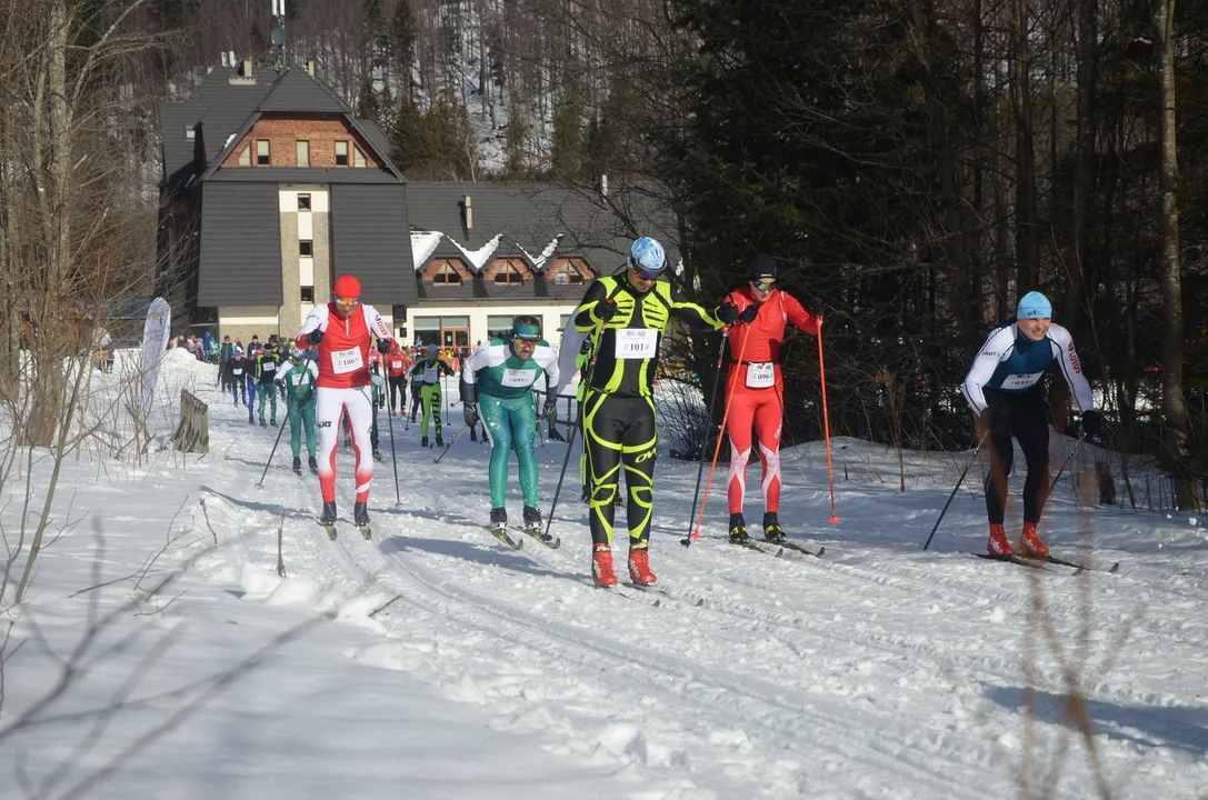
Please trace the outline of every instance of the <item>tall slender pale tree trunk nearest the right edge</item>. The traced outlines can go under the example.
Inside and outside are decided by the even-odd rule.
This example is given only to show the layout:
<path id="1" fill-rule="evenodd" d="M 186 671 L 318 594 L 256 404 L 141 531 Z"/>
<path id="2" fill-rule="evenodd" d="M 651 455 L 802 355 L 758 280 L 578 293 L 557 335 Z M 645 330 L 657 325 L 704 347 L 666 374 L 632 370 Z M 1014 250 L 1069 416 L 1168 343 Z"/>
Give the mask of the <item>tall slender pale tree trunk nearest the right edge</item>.
<path id="1" fill-rule="evenodd" d="M 1180 509 L 1200 508 L 1196 481 L 1186 469 L 1191 422 L 1183 395 L 1183 286 L 1179 263 L 1179 162 L 1175 138 L 1174 97 L 1174 2 L 1154 0 L 1154 22 L 1162 39 L 1160 85 L 1162 196 L 1161 283 L 1166 327 L 1162 334 L 1162 415 L 1166 445 L 1174 476 L 1175 503 Z"/>

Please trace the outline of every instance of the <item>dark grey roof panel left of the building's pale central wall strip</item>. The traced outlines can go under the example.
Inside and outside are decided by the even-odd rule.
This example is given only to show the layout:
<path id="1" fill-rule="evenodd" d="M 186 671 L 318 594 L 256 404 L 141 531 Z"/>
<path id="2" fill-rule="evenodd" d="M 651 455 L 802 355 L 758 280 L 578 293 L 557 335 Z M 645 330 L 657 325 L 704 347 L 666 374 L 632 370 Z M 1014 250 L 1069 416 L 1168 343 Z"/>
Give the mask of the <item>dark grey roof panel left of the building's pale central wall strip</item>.
<path id="1" fill-rule="evenodd" d="M 202 185 L 197 305 L 280 306 L 281 220 L 275 184 Z"/>

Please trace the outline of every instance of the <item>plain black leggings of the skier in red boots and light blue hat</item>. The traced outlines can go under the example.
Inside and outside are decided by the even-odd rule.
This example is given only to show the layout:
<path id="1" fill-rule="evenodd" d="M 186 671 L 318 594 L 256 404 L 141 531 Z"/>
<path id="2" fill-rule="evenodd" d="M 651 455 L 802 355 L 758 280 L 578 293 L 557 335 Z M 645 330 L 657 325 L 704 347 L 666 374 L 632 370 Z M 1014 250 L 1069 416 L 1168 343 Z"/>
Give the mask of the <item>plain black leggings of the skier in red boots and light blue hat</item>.
<path id="1" fill-rule="evenodd" d="M 1006 476 L 1015 460 L 1014 436 L 1023 451 L 1028 477 L 1023 481 L 1023 521 L 1040 522 L 1049 481 L 1049 406 L 1038 385 L 1023 394 L 986 389 L 986 405 L 991 411 L 989 451 L 991 470 L 986 476 L 986 514 L 991 524 L 1003 524 L 1006 498 Z"/>

